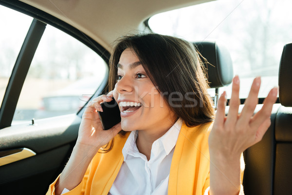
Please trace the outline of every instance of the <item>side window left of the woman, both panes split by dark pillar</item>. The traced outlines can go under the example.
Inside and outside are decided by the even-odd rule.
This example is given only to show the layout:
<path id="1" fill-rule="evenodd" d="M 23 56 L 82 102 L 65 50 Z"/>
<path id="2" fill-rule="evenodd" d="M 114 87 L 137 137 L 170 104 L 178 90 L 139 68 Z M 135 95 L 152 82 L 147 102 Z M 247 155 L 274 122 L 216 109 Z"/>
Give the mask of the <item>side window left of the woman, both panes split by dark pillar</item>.
<path id="1" fill-rule="evenodd" d="M 0 100 L 33 18 L 0 6 Z M 12 124 L 77 113 L 107 77 L 89 47 L 47 25 L 24 81 Z"/>

